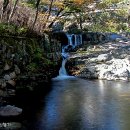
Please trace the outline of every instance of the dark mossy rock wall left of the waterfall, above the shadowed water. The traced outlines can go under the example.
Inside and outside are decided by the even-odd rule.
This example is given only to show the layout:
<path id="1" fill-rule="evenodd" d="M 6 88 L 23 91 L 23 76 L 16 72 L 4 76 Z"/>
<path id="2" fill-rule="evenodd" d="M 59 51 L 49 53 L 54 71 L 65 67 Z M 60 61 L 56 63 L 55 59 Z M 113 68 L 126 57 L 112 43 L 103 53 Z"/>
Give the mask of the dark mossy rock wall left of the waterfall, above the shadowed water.
<path id="1" fill-rule="evenodd" d="M 60 52 L 60 43 L 47 34 L 40 38 L 1 36 L 0 96 L 15 95 L 16 81 L 48 82 L 58 74 Z"/>

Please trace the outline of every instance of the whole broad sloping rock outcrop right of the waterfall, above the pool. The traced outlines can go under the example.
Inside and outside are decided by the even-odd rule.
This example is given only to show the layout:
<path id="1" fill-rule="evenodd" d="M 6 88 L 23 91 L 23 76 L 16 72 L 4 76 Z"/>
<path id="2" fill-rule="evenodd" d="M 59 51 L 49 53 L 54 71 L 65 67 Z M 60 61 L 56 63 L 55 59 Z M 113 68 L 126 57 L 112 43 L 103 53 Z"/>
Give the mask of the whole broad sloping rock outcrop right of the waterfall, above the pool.
<path id="1" fill-rule="evenodd" d="M 71 66 L 71 67 L 70 67 Z M 130 80 L 130 43 L 106 43 L 71 54 L 68 72 L 81 78 Z"/>

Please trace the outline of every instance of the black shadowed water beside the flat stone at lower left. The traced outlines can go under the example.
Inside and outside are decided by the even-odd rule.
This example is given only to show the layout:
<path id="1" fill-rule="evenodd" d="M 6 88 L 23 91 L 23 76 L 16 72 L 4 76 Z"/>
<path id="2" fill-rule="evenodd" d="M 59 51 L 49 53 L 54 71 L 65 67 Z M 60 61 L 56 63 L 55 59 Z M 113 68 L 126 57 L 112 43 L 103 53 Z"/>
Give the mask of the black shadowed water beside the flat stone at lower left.
<path id="1" fill-rule="evenodd" d="M 25 85 L 26 83 L 24 83 Z M 27 84 L 29 86 L 29 84 Z M 44 109 L 44 98 L 52 91 L 52 85 L 50 83 L 40 83 L 30 90 L 28 87 L 19 88 L 16 91 L 16 96 L 9 98 L 10 105 L 15 105 L 23 109 L 22 115 L 18 117 L 0 117 L 0 122 L 20 122 L 22 123 L 21 130 L 33 130 L 30 127 L 29 122 L 35 122 L 36 113 Z"/>

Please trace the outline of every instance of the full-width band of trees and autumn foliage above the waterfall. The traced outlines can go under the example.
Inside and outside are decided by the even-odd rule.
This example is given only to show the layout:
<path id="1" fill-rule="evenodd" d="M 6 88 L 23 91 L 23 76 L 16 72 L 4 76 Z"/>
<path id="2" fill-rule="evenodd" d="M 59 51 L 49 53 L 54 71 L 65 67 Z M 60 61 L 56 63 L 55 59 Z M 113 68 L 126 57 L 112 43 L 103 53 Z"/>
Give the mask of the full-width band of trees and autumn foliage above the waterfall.
<path id="1" fill-rule="evenodd" d="M 74 31 L 130 31 L 128 0 L 4 0 L 0 2 L 0 22 L 42 34 L 54 28 Z"/>

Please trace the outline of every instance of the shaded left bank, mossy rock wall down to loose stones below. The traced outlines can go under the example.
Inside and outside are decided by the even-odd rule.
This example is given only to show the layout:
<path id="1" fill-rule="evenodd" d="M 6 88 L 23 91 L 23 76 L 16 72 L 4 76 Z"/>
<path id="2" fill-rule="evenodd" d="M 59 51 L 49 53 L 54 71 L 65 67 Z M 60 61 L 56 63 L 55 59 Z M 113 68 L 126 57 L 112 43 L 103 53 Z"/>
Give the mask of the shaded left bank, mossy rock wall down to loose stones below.
<path id="1" fill-rule="evenodd" d="M 19 129 L 31 98 L 35 101 L 40 90 L 46 95 L 47 84 L 61 66 L 60 51 L 61 45 L 48 34 L 40 38 L 1 36 L 0 129 Z"/>

